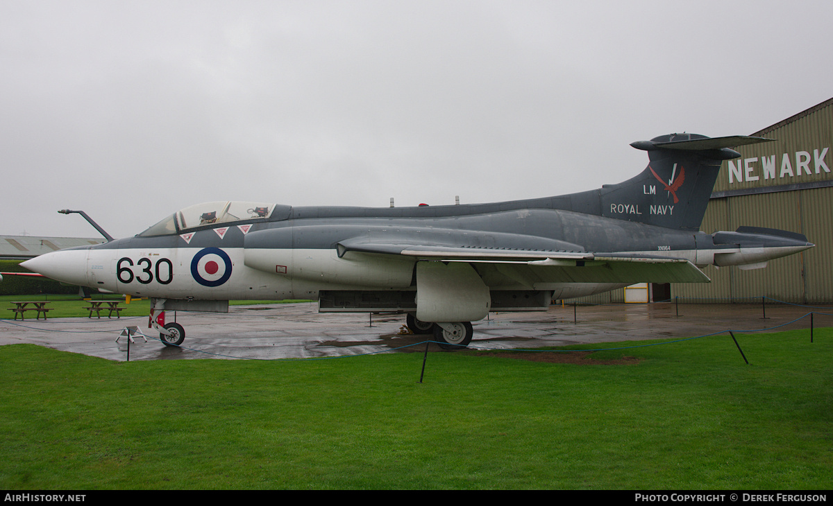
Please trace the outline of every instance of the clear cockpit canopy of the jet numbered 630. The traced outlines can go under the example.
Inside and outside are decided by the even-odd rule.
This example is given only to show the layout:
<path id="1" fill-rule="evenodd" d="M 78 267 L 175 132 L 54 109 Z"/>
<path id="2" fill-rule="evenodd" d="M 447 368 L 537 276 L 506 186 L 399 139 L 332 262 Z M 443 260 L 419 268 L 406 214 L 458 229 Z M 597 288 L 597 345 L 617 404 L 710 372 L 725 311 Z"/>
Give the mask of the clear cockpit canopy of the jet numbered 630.
<path id="1" fill-rule="evenodd" d="M 281 209 L 281 213 L 275 216 L 277 219 L 286 219 L 290 206 L 278 206 L 276 204 L 263 204 L 262 202 L 240 202 L 240 201 L 217 201 L 205 202 L 196 206 L 186 207 L 182 211 L 173 213 L 156 225 L 143 231 L 139 236 L 167 236 L 179 234 L 185 231 L 196 229 L 201 226 L 211 226 L 220 223 L 237 223 L 246 221 L 255 223 L 267 221 L 275 210 Z"/>

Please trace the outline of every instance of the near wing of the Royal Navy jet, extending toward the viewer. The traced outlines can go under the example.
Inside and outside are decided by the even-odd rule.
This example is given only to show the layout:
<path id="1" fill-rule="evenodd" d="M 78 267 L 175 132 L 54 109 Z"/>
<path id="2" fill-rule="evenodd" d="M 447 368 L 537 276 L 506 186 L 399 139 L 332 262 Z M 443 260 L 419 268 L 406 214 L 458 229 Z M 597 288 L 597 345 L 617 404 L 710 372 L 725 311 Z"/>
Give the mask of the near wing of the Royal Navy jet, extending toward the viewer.
<path id="1" fill-rule="evenodd" d="M 340 255 L 361 251 L 419 260 L 491 265 L 502 275 L 531 288 L 546 283 L 709 282 L 708 276 L 689 260 L 658 255 L 435 246 L 416 241 L 368 241 L 361 237 L 341 241 L 338 248 Z"/>

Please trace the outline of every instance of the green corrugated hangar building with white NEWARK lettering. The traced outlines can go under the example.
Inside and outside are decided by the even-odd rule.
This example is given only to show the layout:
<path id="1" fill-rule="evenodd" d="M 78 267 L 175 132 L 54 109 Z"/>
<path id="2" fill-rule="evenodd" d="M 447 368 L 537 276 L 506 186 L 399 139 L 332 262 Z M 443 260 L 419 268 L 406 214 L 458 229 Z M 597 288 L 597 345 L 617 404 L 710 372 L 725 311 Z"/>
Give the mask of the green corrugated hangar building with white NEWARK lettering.
<path id="1" fill-rule="evenodd" d="M 651 285 L 650 300 L 742 303 L 766 296 L 833 303 L 833 98 L 751 135 L 776 141 L 737 147 L 741 158 L 723 161 L 700 230 L 776 228 L 804 234 L 816 247 L 770 260 L 763 269 L 709 265 L 704 272 L 711 283 Z M 631 290 L 581 301 L 624 302 L 626 292 Z"/>

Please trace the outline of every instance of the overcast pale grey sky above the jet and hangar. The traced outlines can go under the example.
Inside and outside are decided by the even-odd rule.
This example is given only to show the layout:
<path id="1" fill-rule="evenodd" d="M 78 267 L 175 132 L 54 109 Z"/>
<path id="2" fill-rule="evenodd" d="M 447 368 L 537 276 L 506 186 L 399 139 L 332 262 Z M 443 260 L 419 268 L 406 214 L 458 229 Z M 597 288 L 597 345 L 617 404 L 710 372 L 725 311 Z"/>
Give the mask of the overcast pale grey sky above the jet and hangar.
<path id="1" fill-rule="evenodd" d="M 0 0 L 0 234 L 503 201 L 833 97 L 833 2 Z"/>

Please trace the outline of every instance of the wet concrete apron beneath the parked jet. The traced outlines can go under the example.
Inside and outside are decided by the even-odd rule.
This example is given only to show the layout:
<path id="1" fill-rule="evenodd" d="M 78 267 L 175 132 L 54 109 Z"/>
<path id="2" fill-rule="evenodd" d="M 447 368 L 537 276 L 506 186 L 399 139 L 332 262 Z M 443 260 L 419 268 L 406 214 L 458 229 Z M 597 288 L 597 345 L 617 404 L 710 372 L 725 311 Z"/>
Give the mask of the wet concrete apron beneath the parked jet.
<path id="1" fill-rule="evenodd" d="M 816 309 L 794 305 L 675 305 L 629 304 L 576 307 L 551 306 L 546 312 L 498 313 L 474 324 L 472 347 L 488 349 L 537 348 L 594 344 L 621 340 L 683 338 L 721 330 L 809 329 L 810 318 L 784 325 L 810 311 L 833 315 L 833 307 Z M 816 315 L 814 325 L 833 326 L 833 316 Z M 369 324 L 372 320 L 372 326 Z M 168 321 L 172 321 L 169 315 Z M 185 327 L 182 348 L 147 343 L 130 345 L 130 360 L 159 359 L 287 359 L 359 355 L 402 349 L 431 335 L 402 335 L 405 315 L 318 313 L 317 303 L 232 306 L 228 314 L 177 314 Z M 125 325 L 138 325 L 151 337 L 147 317 L 121 319 L 56 318 L 0 320 L 0 345 L 33 343 L 109 360 L 127 359 L 127 341 L 116 342 Z M 410 347 L 408 347 L 410 345 Z M 430 350 L 440 350 L 431 345 Z"/>

